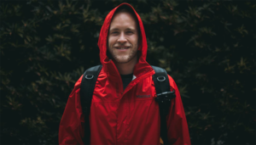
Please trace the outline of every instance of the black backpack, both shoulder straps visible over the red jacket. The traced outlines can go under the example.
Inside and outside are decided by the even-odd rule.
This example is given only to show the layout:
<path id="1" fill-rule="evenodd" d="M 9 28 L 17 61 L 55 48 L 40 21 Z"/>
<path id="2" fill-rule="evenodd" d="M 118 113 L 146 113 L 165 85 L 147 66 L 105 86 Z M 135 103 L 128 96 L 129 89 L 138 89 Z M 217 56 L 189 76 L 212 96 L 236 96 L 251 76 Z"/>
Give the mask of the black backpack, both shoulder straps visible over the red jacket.
<path id="1" fill-rule="evenodd" d="M 157 97 L 155 101 L 159 103 L 160 109 L 160 137 L 165 144 L 168 144 L 166 115 L 171 106 L 171 99 L 175 98 L 175 91 L 171 91 L 170 83 L 166 70 L 152 66 L 155 74 L 153 75 L 154 87 Z M 80 102 L 84 114 L 84 144 L 90 144 L 90 103 L 97 77 L 102 70 L 102 65 L 96 65 L 84 71 L 83 79 L 80 86 Z"/>

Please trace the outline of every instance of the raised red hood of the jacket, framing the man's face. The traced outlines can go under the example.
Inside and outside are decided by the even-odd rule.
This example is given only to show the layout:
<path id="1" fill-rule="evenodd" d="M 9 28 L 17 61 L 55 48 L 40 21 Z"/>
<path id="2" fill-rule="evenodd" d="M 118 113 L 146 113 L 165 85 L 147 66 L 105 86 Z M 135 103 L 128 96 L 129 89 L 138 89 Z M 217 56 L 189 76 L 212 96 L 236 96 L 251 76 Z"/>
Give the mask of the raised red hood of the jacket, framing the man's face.
<path id="1" fill-rule="evenodd" d="M 119 76 L 119 71 L 117 70 L 115 64 L 113 64 L 113 61 L 111 59 L 108 59 L 108 56 L 107 56 L 108 30 L 111 24 L 111 20 L 113 18 L 113 14 L 117 10 L 117 8 L 124 5 L 127 6 L 128 8 L 131 8 L 131 10 L 133 10 L 134 14 L 137 16 L 139 31 L 140 31 L 140 42 L 139 42 L 138 51 L 137 51 L 137 53 L 139 54 L 138 55 L 139 58 L 138 58 L 137 64 L 134 66 L 134 70 L 133 70 L 134 78 L 138 78 L 144 74 L 147 74 L 150 71 L 154 71 L 146 61 L 148 45 L 147 45 L 146 34 L 143 27 L 143 21 L 141 20 L 140 16 L 137 14 L 135 9 L 130 4 L 121 3 L 116 8 L 113 8 L 113 10 L 111 10 L 107 15 L 102 25 L 102 30 L 100 32 L 100 36 L 98 40 L 98 47 L 100 48 L 100 59 L 102 63 L 102 68 L 104 71 L 107 72 L 108 76 L 113 80 L 118 79 L 117 76 Z"/>

